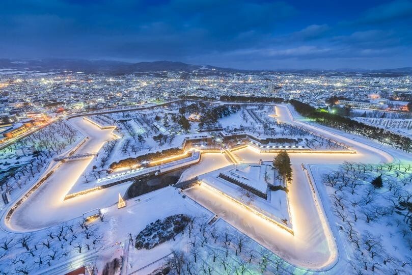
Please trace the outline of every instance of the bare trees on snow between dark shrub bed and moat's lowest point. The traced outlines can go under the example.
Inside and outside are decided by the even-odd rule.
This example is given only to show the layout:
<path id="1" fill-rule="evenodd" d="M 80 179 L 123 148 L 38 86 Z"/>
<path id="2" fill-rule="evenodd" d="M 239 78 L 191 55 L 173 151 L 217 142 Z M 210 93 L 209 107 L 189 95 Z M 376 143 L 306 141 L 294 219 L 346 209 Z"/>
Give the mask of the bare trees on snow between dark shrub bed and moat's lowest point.
<path id="1" fill-rule="evenodd" d="M 187 249 L 175 250 L 168 259 L 171 274 L 245 274 L 247 270 L 283 274 L 290 268 L 246 235 L 209 226 L 202 218 L 191 219 L 182 234 Z"/>

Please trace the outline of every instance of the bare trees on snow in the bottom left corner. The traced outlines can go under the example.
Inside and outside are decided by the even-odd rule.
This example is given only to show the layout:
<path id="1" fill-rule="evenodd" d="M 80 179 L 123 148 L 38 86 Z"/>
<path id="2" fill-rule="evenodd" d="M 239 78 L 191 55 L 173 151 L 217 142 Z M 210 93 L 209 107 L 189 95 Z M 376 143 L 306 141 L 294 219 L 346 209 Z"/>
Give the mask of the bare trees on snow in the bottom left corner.
<path id="1" fill-rule="evenodd" d="M 101 221 L 103 219 L 101 216 Z M 102 240 L 98 226 L 83 219 L 41 232 L 7 235 L 0 239 L 0 274 L 29 274 L 42 270 L 62 258 L 97 251 Z"/>

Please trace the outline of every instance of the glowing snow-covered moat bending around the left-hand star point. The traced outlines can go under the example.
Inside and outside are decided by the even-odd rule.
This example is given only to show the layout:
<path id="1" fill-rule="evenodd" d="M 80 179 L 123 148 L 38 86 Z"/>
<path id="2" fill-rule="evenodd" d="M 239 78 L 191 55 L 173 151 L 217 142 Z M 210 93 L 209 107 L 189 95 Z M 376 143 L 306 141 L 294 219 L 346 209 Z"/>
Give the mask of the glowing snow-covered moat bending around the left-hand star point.
<path id="1" fill-rule="evenodd" d="M 86 132 L 89 140 L 80 147 L 77 154 L 99 151 L 103 143 L 111 137 L 113 129 L 101 130 L 92 123 L 81 118 L 71 120 L 73 125 Z M 15 231 L 33 231 L 68 219 L 81 216 L 83 213 L 102 208 L 118 200 L 127 189 L 127 184 L 114 188 L 102 189 L 64 201 L 65 195 L 84 172 L 91 158 L 69 160 L 65 162 L 38 190 L 26 200 L 10 218 L 9 226 Z"/>

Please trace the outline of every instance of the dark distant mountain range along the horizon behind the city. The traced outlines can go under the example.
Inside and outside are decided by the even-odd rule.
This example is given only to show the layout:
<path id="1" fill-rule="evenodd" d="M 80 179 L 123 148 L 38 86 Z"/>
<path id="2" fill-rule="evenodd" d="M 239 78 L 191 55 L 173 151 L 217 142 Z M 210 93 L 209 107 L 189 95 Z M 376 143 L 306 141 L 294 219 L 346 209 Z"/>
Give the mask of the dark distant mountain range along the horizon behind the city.
<path id="1" fill-rule="evenodd" d="M 182 62 L 172 61 L 155 61 L 128 63 L 107 60 L 78 60 L 78 59 L 0 59 L 0 71 L 38 71 L 38 72 L 85 72 L 85 73 L 108 73 L 108 74 L 126 74 L 126 73 L 148 73 L 148 72 L 194 72 L 202 73 L 228 73 L 228 72 L 293 72 L 293 73 L 367 73 L 367 74 L 412 74 L 412 67 L 364 70 L 364 69 L 347 69 L 322 70 L 322 69 L 287 69 L 287 70 L 237 70 L 231 68 L 220 68 L 210 65 L 191 65 Z"/>

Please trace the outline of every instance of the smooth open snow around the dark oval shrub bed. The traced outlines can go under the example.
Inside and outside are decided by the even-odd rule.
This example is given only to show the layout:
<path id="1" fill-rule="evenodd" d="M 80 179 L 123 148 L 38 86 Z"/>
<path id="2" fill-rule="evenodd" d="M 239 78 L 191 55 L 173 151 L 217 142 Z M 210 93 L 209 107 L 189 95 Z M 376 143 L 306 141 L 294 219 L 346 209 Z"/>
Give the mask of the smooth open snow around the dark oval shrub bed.
<path id="1" fill-rule="evenodd" d="M 148 211 L 150 209 L 150 211 Z M 194 201 L 183 198 L 182 194 L 173 187 L 165 187 L 152 193 L 145 194 L 139 199 L 127 201 L 126 208 L 116 206 L 105 209 L 107 221 L 111 225 L 107 230 L 107 238 L 113 242 L 126 238 L 129 233 L 137 235 L 146 225 L 158 218 L 173 214 L 188 214 L 208 219 L 212 213 Z M 135 271 L 171 253 L 174 246 L 179 246 L 181 237 L 176 241 L 156 246 L 153 250 L 135 250 L 129 248 L 128 272 Z"/>

